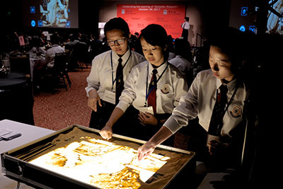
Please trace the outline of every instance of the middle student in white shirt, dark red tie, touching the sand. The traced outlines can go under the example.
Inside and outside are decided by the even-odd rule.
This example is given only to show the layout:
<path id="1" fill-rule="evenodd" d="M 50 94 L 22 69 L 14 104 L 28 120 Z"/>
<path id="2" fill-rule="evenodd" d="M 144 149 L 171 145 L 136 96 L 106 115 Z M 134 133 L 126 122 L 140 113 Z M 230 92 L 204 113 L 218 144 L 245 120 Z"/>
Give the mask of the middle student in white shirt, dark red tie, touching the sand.
<path id="1" fill-rule="evenodd" d="M 171 115 L 180 97 L 187 92 L 187 83 L 180 71 L 167 62 L 167 33 L 161 25 L 151 24 L 141 30 L 141 47 L 146 62 L 134 67 L 125 82 L 120 101 L 113 110 L 105 127 L 100 131 L 104 139 L 112 137 L 112 126 L 125 113 L 129 105 L 137 110 L 129 119 L 128 135 L 149 139 Z M 156 111 L 149 106 L 149 88 L 153 70 L 156 69 Z M 152 108 L 152 109 L 151 109 Z M 153 111 L 151 111 L 153 110 Z M 114 127 L 115 128 L 115 127 Z"/>

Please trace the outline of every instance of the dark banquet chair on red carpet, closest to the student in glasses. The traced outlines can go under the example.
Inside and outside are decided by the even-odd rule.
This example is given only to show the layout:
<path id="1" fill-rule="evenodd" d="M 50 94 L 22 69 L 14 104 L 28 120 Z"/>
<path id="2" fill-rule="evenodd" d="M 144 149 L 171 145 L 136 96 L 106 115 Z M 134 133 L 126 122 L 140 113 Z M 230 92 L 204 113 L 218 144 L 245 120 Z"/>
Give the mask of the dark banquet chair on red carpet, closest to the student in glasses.
<path id="1" fill-rule="evenodd" d="M 71 80 L 68 74 L 67 60 L 68 60 L 68 56 L 66 52 L 56 53 L 54 58 L 54 67 L 53 67 L 54 76 L 63 81 L 66 91 L 67 91 L 67 84 L 65 79 L 67 80 L 69 87 L 71 87 Z"/>

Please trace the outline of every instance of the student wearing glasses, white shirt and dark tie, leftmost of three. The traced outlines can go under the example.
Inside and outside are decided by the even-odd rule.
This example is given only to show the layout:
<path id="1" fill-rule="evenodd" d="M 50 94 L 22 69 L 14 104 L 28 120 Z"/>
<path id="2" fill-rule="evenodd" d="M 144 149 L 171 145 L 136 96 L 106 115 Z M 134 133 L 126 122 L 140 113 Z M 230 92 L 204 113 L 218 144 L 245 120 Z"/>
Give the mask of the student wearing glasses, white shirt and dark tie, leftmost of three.
<path id="1" fill-rule="evenodd" d="M 104 33 L 111 50 L 103 52 L 93 59 L 91 73 L 86 81 L 86 94 L 91 113 L 90 127 L 100 130 L 117 104 L 117 84 L 123 86 L 132 67 L 143 62 L 145 58 L 129 49 L 131 36 L 129 26 L 122 18 L 112 18 L 105 24 Z M 120 63 L 119 63 L 120 60 Z M 120 72 L 117 67 L 120 64 Z M 122 67 L 122 69 L 121 69 Z"/>

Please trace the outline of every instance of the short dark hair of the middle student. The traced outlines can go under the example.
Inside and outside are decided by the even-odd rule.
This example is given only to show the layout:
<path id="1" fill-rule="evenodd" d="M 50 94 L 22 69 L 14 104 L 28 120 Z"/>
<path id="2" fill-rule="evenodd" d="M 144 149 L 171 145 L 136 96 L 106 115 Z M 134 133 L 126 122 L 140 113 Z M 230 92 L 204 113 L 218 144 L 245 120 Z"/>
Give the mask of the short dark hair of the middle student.
<path id="1" fill-rule="evenodd" d="M 139 39 L 144 38 L 152 46 L 159 46 L 163 49 L 164 59 L 169 57 L 168 50 L 168 35 L 166 30 L 158 24 L 147 25 L 146 28 L 141 30 Z"/>

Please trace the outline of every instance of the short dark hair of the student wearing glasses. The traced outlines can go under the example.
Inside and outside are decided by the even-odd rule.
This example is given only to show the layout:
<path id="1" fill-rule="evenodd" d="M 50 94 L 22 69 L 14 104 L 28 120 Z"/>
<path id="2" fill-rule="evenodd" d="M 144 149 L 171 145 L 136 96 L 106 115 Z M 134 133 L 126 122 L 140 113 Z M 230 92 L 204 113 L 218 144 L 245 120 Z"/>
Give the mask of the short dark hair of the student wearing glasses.
<path id="1" fill-rule="evenodd" d="M 106 36 L 106 33 L 109 30 L 122 30 L 125 33 L 125 37 L 129 37 L 129 25 L 127 24 L 124 19 L 118 17 L 118 18 L 111 18 L 107 23 L 104 25 L 104 33 Z"/>

